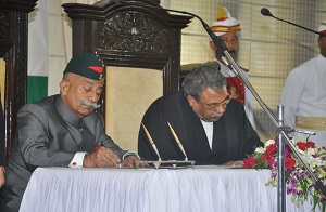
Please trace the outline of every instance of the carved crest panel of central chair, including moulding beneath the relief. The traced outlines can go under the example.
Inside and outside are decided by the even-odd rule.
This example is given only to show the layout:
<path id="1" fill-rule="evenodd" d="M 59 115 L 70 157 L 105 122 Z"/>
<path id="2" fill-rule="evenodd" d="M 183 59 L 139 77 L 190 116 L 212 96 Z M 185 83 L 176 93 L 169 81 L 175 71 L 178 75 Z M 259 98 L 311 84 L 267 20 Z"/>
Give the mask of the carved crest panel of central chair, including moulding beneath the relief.
<path id="1" fill-rule="evenodd" d="M 171 57 L 173 30 L 142 13 L 115 14 L 96 23 L 93 31 L 92 49 L 105 64 L 163 69 Z"/>

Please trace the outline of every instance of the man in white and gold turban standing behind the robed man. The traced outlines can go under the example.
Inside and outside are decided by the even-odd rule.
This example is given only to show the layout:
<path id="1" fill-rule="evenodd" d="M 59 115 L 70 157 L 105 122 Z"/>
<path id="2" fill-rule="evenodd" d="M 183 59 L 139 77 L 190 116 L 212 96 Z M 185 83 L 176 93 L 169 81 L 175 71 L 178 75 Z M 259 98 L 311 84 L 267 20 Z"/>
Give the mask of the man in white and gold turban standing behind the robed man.
<path id="1" fill-rule="evenodd" d="M 235 17 L 231 17 L 227 9 L 223 8 L 221 4 L 217 8 L 217 19 L 216 22 L 213 22 L 211 29 L 216 36 L 221 37 L 227 47 L 230 56 L 235 62 L 237 62 L 239 51 L 238 32 L 241 31 L 241 27 L 238 21 Z M 227 66 L 224 65 L 222 58 L 216 53 L 217 48 L 212 40 L 210 40 L 210 47 L 215 52 L 214 61 L 218 62 L 221 66 L 221 72 L 224 75 L 224 77 L 226 77 L 228 94 L 244 106 L 247 117 L 254 128 L 251 92 L 244 87 L 236 74 L 234 74 Z M 242 70 L 247 79 L 249 79 L 248 75 L 246 74 L 249 70 L 243 68 Z"/>

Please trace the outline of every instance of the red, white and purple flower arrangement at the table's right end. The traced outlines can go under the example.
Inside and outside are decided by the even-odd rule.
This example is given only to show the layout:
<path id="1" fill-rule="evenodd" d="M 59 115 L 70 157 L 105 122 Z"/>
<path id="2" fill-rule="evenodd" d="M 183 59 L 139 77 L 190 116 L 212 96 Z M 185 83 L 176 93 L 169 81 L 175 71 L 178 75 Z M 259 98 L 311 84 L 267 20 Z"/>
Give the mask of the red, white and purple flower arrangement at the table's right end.
<path id="1" fill-rule="evenodd" d="M 315 143 L 302 140 L 291 140 L 299 154 L 310 165 L 315 175 L 326 185 L 326 148 L 316 148 Z M 255 148 L 252 155 L 243 159 L 243 168 L 271 169 L 271 180 L 266 186 L 277 186 L 277 142 L 269 140 L 264 147 Z M 319 191 L 314 180 L 309 175 L 300 159 L 285 145 L 285 181 L 287 194 L 291 195 L 296 206 L 300 206 L 311 196 L 313 210 L 326 206 L 326 197 Z"/>

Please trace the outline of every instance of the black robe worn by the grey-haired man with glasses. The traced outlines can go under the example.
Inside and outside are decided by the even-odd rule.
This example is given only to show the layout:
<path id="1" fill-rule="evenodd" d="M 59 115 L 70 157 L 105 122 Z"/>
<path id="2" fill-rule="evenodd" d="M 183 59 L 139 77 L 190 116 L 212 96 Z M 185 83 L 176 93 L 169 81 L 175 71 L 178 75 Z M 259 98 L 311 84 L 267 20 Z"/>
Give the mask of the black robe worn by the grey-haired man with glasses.
<path id="1" fill-rule="evenodd" d="M 184 92 L 177 91 L 156 100 L 142 118 L 162 160 L 185 159 L 167 122 L 183 143 L 188 159 L 195 160 L 196 164 L 242 160 L 246 154 L 253 153 L 255 146 L 263 145 L 248 120 L 243 106 L 231 100 L 222 118 L 213 123 L 211 149 L 200 119 L 189 106 Z M 142 127 L 139 130 L 138 154 L 146 160 L 158 160 Z"/>

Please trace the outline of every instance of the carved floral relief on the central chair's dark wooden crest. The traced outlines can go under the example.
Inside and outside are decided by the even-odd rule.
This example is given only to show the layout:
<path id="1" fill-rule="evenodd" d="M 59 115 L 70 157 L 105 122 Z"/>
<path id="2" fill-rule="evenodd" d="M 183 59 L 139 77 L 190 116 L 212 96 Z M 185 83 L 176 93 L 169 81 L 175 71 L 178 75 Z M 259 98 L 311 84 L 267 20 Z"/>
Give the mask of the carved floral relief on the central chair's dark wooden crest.
<path id="1" fill-rule="evenodd" d="M 98 49 L 126 51 L 131 54 L 162 54 L 165 57 L 168 54 L 168 30 L 142 13 L 114 14 L 98 27 Z"/>

